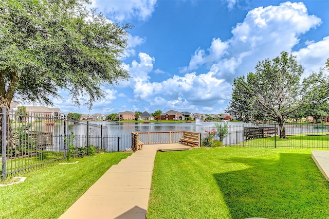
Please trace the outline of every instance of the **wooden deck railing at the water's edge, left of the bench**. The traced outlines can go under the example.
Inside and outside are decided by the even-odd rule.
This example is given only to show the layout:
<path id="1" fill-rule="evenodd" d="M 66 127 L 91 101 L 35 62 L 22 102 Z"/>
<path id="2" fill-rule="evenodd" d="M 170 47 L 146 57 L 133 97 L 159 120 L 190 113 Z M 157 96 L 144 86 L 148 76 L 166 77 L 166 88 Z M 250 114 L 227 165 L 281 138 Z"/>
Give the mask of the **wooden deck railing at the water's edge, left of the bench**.
<path id="1" fill-rule="evenodd" d="M 148 144 L 172 144 L 179 143 L 184 131 L 167 131 L 167 132 L 132 132 L 132 150 L 138 150 L 138 141 L 144 145 Z"/>

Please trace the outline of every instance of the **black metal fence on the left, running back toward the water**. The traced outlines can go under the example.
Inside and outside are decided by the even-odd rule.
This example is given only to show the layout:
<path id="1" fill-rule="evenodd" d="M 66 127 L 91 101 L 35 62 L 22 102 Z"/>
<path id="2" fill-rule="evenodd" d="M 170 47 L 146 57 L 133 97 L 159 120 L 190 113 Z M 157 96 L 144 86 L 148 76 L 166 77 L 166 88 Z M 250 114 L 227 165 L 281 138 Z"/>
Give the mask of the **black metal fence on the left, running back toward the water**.
<path id="1" fill-rule="evenodd" d="M 94 150 L 124 151 L 131 136 L 108 135 L 106 125 L 43 115 L 18 115 L 0 109 L 1 176 L 15 176 Z"/>

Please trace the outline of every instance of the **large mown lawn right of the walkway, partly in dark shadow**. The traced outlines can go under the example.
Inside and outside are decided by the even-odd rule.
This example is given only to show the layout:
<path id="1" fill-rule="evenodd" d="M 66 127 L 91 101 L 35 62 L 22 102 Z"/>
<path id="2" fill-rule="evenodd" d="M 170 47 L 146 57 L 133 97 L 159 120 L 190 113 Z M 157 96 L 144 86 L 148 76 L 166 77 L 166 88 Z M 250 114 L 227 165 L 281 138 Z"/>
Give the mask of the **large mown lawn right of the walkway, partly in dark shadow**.
<path id="1" fill-rule="evenodd" d="M 161 152 L 148 218 L 329 218 L 328 197 L 309 149 Z"/>

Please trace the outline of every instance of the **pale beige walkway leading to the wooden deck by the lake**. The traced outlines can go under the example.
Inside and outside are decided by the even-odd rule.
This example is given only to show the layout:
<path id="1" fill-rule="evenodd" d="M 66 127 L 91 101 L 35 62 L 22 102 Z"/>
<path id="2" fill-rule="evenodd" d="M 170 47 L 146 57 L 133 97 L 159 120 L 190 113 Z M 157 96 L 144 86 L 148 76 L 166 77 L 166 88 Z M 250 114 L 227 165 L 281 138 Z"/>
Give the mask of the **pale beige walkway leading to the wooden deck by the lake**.
<path id="1" fill-rule="evenodd" d="M 60 218 L 145 218 L 155 154 L 189 150 L 182 144 L 144 145 L 109 168 Z"/>

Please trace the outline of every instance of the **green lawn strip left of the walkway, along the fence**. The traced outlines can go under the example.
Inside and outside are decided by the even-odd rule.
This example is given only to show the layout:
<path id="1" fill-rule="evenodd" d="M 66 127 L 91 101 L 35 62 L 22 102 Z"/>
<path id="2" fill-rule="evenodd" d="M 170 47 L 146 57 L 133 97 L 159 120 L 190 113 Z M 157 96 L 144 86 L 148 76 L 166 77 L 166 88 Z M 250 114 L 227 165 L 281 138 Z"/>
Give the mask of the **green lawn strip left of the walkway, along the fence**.
<path id="1" fill-rule="evenodd" d="M 129 155 L 98 154 L 25 174 L 25 182 L 0 187 L 0 218 L 58 218 L 106 170 Z"/>

